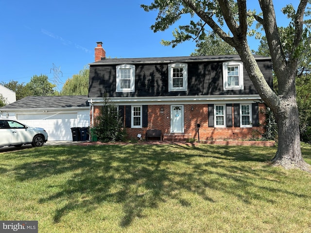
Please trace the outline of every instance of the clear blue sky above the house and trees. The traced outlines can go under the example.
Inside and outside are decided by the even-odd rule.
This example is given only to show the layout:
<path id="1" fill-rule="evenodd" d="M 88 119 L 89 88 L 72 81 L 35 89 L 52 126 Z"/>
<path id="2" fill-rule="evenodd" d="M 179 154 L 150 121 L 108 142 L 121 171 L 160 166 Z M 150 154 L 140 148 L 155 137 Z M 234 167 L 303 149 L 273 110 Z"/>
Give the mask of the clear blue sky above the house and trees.
<path id="1" fill-rule="evenodd" d="M 97 41 L 111 58 L 189 56 L 195 42 L 174 49 L 160 44 L 172 39 L 170 28 L 153 33 L 156 12 L 144 12 L 140 4 L 151 0 L 0 0 L 0 82 L 28 83 L 45 74 L 53 81 L 53 64 L 64 83 L 94 61 Z M 250 0 L 251 4 L 257 1 Z M 297 0 L 274 0 L 278 26 L 287 20 L 280 9 Z M 250 8 L 257 8 L 252 5 Z M 284 24 L 284 25 L 283 25 Z M 250 40 L 251 49 L 259 42 Z M 62 86 L 58 83 L 58 88 Z"/>

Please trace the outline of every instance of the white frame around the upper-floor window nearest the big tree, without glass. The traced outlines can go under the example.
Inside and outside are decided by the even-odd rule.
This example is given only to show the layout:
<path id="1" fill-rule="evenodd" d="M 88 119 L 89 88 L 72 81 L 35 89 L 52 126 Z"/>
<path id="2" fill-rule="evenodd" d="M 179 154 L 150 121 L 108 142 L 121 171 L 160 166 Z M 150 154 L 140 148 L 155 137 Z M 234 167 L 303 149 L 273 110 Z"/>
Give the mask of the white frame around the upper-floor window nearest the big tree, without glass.
<path id="1" fill-rule="evenodd" d="M 239 85 L 228 84 L 228 67 L 238 67 L 239 71 Z M 230 61 L 223 63 L 223 75 L 224 75 L 224 90 L 243 90 L 244 89 L 244 77 L 243 77 L 243 63 Z"/>

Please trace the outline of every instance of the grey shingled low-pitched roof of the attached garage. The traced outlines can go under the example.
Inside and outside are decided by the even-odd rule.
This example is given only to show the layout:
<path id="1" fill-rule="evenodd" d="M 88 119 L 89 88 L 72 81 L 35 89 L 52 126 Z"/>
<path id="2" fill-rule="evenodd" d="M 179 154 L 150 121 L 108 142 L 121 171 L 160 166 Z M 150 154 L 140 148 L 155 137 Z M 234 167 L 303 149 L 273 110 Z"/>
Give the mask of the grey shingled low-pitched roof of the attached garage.
<path id="1" fill-rule="evenodd" d="M 0 109 L 88 107 L 87 96 L 28 96 Z"/>

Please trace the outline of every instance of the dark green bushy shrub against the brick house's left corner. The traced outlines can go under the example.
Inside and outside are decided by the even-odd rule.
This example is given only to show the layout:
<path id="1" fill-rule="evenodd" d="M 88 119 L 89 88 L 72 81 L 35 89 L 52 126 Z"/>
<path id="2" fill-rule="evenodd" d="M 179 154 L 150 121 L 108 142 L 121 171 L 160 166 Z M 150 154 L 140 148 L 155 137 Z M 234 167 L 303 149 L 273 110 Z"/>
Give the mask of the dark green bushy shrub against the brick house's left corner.
<path id="1" fill-rule="evenodd" d="M 95 117 L 94 126 L 98 139 L 103 142 L 122 141 L 126 137 L 122 119 L 117 106 L 110 103 L 105 94 L 101 115 Z"/>

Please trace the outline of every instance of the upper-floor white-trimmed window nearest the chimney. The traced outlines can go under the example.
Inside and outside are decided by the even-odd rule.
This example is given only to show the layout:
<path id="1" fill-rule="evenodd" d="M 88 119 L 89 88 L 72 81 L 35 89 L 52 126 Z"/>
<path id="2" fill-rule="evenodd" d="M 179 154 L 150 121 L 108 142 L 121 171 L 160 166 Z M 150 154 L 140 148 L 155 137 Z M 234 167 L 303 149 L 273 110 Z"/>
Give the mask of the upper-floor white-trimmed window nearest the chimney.
<path id="1" fill-rule="evenodd" d="M 117 66 L 117 92 L 135 91 L 135 66 L 123 64 Z"/>

